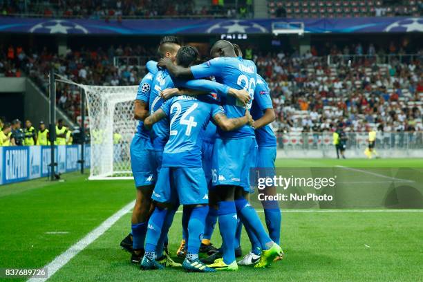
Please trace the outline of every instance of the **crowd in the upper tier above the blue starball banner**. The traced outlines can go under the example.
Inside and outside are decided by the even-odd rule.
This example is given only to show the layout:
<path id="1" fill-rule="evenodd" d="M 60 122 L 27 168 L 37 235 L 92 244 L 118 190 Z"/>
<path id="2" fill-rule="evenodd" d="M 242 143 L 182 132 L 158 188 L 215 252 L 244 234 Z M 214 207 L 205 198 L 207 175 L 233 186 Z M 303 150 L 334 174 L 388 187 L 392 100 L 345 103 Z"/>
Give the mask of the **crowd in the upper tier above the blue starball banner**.
<path id="1" fill-rule="evenodd" d="M 196 8 L 194 0 L 90 0 L 90 1 L 0 1 L 2 16 L 36 15 L 84 19 L 154 18 L 154 17 L 251 17 L 252 1 L 225 5 L 223 0 Z"/>

